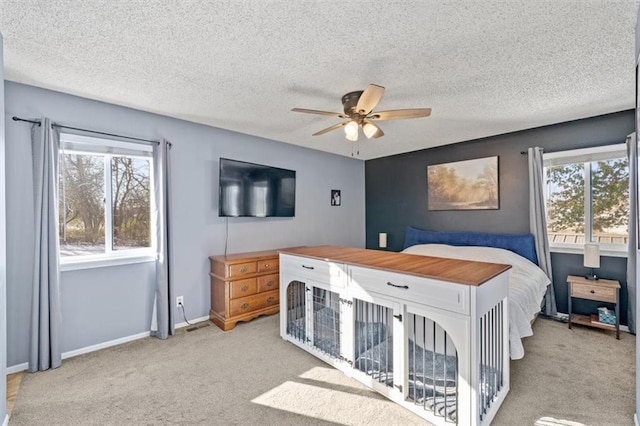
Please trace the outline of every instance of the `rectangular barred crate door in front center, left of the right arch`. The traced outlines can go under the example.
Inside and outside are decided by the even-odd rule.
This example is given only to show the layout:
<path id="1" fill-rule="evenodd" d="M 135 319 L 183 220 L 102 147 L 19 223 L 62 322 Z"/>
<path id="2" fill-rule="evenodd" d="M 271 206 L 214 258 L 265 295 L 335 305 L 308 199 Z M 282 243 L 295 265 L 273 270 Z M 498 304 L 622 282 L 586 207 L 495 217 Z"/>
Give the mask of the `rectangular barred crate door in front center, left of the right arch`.
<path id="1" fill-rule="evenodd" d="M 392 387 L 393 309 L 354 301 L 354 368 Z"/>

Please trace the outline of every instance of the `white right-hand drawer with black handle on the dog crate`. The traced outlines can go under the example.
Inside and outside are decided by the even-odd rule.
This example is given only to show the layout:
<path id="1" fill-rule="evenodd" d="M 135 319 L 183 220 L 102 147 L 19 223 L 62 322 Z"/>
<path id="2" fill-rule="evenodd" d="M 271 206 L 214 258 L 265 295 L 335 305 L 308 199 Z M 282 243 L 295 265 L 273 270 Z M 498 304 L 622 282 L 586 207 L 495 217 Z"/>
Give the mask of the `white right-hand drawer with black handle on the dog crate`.
<path id="1" fill-rule="evenodd" d="M 349 287 L 469 314 L 469 286 L 351 266 Z"/>

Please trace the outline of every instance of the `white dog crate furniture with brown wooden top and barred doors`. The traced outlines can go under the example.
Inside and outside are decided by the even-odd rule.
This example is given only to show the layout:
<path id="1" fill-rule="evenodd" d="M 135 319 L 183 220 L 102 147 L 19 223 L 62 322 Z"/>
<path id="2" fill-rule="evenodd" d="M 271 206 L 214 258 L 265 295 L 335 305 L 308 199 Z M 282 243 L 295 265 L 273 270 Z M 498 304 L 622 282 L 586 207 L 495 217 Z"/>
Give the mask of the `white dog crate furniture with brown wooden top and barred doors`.
<path id="1" fill-rule="evenodd" d="M 286 249 L 280 334 L 434 424 L 489 424 L 509 391 L 509 268 Z"/>

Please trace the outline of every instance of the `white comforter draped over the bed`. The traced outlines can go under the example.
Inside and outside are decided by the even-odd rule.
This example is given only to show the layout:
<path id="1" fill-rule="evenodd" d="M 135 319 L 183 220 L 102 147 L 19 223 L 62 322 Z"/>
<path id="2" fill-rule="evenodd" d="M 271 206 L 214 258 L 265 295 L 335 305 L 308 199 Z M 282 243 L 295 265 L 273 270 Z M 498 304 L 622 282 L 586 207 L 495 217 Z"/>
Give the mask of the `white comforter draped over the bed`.
<path id="1" fill-rule="evenodd" d="M 551 282 L 542 269 L 509 250 L 493 247 L 418 244 L 406 248 L 403 253 L 511 265 L 508 298 L 509 355 L 511 359 L 524 356 L 521 339 L 533 335 L 531 321 L 540 312 L 540 302 Z"/>

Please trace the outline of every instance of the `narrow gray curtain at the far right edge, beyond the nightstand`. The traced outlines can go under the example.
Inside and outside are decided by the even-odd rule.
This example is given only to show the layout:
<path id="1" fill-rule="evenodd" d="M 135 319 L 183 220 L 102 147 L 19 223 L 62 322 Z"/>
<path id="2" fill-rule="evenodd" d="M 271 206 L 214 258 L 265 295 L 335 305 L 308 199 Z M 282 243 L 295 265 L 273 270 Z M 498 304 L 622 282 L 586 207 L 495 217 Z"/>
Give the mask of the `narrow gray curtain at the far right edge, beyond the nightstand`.
<path id="1" fill-rule="evenodd" d="M 629 250 L 627 254 L 627 323 L 636 332 L 636 260 L 638 247 L 638 142 L 636 134 L 627 136 L 629 156 Z"/>

